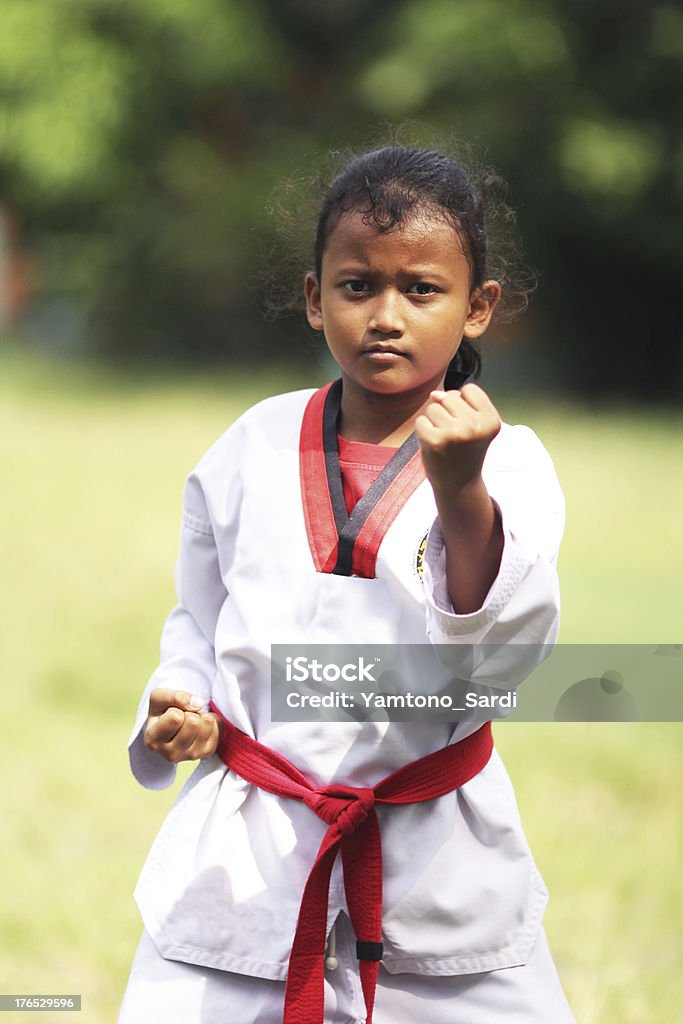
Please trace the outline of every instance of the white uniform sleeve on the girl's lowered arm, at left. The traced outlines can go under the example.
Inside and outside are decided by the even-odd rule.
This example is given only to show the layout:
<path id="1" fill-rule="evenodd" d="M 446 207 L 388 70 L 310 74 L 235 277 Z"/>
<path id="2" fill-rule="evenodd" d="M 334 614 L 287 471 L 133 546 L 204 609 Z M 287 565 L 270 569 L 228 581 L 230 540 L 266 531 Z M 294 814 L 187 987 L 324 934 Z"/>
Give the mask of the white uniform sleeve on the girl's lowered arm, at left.
<path id="1" fill-rule="evenodd" d="M 227 597 L 201 484 L 190 476 L 183 496 L 180 552 L 175 570 L 178 604 L 166 620 L 159 668 L 140 700 L 128 753 L 135 778 L 150 790 L 163 790 L 175 778 L 175 765 L 144 745 L 150 694 L 159 686 L 186 690 L 208 702 L 216 671 L 214 650 L 218 614 Z"/>

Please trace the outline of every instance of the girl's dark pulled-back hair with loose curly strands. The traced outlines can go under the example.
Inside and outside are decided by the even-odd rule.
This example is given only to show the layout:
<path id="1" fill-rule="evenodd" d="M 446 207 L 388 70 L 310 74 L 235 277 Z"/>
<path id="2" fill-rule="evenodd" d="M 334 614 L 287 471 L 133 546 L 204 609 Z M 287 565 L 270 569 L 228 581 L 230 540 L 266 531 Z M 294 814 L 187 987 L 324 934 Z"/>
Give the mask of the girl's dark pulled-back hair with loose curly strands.
<path id="1" fill-rule="evenodd" d="M 461 239 L 470 264 L 471 289 L 492 279 L 500 283 L 503 295 L 496 319 L 510 319 L 526 308 L 533 278 L 520 265 L 507 187 L 496 171 L 473 158 L 471 151 L 460 152 L 456 158 L 438 150 L 391 144 L 361 155 L 333 154 L 331 171 L 326 175 L 329 184 L 323 179 L 316 189 L 311 189 L 317 197 L 317 210 L 312 254 L 307 236 L 306 268 L 311 269 L 312 255 L 318 278 L 328 239 L 345 214 L 357 211 L 377 230 L 390 231 L 416 214 L 433 211 L 444 217 Z M 293 217 L 300 220 L 301 204 L 292 203 L 293 198 L 296 186 L 286 188 L 279 204 L 290 256 L 300 248 L 291 228 Z M 310 215 L 304 214 L 304 220 L 310 223 Z M 301 278 L 296 296 L 290 290 L 288 293 L 289 297 L 281 291 L 280 299 L 271 301 L 270 308 L 282 311 L 300 307 Z M 480 369 L 478 347 L 464 338 L 450 372 L 477 377 Z"/>

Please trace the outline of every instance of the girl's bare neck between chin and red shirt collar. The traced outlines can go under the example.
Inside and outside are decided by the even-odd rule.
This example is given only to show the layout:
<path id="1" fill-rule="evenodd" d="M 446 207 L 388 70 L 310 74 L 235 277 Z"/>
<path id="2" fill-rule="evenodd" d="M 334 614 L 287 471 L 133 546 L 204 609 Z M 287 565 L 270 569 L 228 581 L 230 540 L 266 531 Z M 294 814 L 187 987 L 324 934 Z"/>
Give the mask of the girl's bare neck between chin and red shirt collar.
<path id="1" fill-rule="evenodd" d="M 413 433 L 416 419 L 438 386 L 437 382 L 426 391 L 378 394 L 354 387 L 344 377 L 339 433 L 349 441 L 399 447 Z"/>

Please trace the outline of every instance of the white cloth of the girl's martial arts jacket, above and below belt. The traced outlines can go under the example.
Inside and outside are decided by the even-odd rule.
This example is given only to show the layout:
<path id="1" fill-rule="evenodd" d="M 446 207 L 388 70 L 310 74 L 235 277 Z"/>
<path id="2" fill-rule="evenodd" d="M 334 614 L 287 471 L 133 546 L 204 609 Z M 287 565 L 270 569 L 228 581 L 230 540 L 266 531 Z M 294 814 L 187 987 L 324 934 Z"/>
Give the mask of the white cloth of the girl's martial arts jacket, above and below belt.
<path id="1" fill-rule="evenodd" d="M 472 644 L 486 645 L 484 651 L 514 644 L 504 680 L 495 658 L 473 664 L 470 653 L 462 667 L 463 678 L 510 685 L 541 659 L 531 645 L 555 640 L 564 503 L 533 432 L 504 425 L 488 449 L 483 476 L 502 513 L 505 547 L 483 605 L 461 615 L 449 602 L 443 541 L 426 479 L 399 501 L 379 544 L 374 579 L 316 570 L 299 451 L 312 395 L 300 391 L 255 406 L 187 479 L 178 605 L 164 628 L 161 664 L 130 743 L 132 770 L 150 788 L 167 786 L 174 776 L 173 766 L 142 741 L 150 690 L 157 686 L 213 697 L 238 728 L 319 785 L 372 786 L 478 727 L 464 716 L 447 724 L 272 723 L 272 643 L 431 641 L 451 645 L 456 667 L 459 646 L 471 652 Z M 327 497 L 313 499 L 325 505 Z M 386 969 L 459 975 L 524 964 L 547 892 L 497 753 L 459 791 L 429 803 L 379 807 L 378 814 Z M 216 757 L 201 762 L 136 888 L 160 952 L 283 979 L 301 893 L 326 827 L 305 805 L 250 786 Z M 337 863 L 330 924 L 344 907 Z"/>

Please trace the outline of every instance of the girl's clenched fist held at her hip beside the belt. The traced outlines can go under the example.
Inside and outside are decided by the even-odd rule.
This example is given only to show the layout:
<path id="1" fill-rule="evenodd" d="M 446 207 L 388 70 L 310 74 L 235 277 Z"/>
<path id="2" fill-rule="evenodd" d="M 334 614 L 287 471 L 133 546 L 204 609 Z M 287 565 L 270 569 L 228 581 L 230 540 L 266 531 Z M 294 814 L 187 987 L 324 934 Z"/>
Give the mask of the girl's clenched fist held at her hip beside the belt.
<path id="1" fill-rule="evenodd" d="M 184 690 L 159 688 L 150 695 L 144 745 L 166 761 L 197 761 L 216 753 L 220 723 L 204 701 Z"/>

